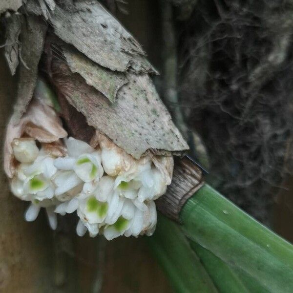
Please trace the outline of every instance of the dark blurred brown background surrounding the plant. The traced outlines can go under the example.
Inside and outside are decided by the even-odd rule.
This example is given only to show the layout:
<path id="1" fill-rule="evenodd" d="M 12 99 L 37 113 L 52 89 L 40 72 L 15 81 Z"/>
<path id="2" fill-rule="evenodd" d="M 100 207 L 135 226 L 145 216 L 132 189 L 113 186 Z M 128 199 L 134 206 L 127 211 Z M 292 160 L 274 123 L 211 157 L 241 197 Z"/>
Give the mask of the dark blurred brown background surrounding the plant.
<path id="1" fill-rule="evenodd" d="M 161 73 L 154 82 L 206 181 L 293 242 L 293 1 L 103 3 Z M 16 79 L 1 54 L 2 140 Z M 55 232 L 44 214 L 25 223 L 2 170 L 0 187 L 0 292 L 172 292 L 144 238 L 79 238 L 68 217 Z"/>

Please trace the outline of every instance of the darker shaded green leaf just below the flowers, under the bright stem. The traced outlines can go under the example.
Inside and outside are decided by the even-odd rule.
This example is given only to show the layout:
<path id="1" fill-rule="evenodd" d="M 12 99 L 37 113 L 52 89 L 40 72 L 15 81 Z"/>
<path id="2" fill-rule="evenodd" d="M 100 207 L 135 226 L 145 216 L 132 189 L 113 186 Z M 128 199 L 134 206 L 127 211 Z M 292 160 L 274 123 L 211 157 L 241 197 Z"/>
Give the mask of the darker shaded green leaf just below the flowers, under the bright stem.
<path id="1" fill-rule="evenodd" d="M 146 241 L 176 292 L 218 292 L 176 223 L 158 214 L 157 229 Z"/>

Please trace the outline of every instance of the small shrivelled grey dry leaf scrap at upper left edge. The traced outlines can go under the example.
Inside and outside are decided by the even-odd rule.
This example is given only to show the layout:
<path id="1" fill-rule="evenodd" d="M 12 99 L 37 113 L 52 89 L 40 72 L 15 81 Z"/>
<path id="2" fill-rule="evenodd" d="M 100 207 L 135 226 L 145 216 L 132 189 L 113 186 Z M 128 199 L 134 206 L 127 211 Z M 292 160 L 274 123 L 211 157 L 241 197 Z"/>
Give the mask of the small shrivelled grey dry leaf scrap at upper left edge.
<path id="1" fill-rule="evenodd" d="M 4 56 L 8 63 L 10 72 L 12 75 L 15 74 L 16 68 L 19 64 L 19 35 L 21 33 L 21 20 L 20 14 L 12 14 L 6 20 L 6 45 L 4 48 Z"/>

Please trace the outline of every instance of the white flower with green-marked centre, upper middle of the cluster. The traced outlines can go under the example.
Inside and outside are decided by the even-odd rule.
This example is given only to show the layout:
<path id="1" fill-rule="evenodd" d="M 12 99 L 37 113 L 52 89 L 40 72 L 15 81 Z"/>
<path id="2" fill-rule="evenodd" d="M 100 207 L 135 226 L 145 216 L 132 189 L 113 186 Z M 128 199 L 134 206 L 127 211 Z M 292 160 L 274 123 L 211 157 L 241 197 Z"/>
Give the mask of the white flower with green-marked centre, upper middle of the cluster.
<path id="1" fill-rule="evenodd" d="M 100 151 L 72 137 L 66 141 L 66 146 L 68 156 L 57 158 L 55 167 L 60 170 L 73 170 L 84 182 L 99 180 L 103 176 Z"/>

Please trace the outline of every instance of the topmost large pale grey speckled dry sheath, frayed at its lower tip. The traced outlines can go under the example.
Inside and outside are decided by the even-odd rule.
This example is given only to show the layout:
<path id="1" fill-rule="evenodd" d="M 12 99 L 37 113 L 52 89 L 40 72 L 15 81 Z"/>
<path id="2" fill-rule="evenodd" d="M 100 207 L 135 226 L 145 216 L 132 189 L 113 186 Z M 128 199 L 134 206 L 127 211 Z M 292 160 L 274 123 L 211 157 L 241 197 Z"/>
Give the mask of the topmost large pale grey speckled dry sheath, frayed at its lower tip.
<path id="1" fill-rule="evenodd" d="M 75 8 L 56 6 L 50 22 L 59 38 L 113 71 L 155 72 L 141 45 L 98 1 L 76 1 Z"/>

